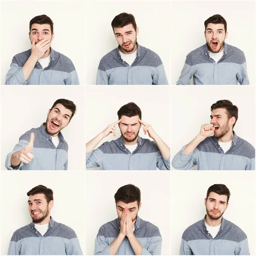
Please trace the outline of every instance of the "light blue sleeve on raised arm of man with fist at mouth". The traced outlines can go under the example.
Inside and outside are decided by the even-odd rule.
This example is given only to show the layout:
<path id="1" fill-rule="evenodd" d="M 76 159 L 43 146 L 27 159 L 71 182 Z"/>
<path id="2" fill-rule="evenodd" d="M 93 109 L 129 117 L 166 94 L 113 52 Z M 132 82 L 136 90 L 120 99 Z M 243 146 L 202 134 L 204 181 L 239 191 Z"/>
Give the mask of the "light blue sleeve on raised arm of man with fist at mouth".
<path id="1" fill-rule="evenodd" d="M 191 154 L 184 154 L 183 150 L 186 147 L 183 146 L 181 150 L 173 157 L 172 166 L 178 170 L 189 170 L 197 164 L 197 152 L 198 149 L 195 150 Z"/>

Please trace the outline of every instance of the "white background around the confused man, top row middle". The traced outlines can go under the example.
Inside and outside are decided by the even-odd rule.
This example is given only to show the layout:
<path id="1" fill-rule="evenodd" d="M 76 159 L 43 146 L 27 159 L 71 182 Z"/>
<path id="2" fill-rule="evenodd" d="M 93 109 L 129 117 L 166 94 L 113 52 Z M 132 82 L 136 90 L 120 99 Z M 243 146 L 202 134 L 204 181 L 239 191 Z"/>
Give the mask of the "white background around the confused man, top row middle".
<path id="1" fill-rule="evenodd" d="M 138 43 L 157 53 L 163 61 L 169 83 L 170 78 L 170 3 L 160 1 L 87 2 L 86 84 L 96 84 L 99 61 L 115 49 L 116 42 L 111 22 L 122 12 L 134 15 L 139 35 Z"/>

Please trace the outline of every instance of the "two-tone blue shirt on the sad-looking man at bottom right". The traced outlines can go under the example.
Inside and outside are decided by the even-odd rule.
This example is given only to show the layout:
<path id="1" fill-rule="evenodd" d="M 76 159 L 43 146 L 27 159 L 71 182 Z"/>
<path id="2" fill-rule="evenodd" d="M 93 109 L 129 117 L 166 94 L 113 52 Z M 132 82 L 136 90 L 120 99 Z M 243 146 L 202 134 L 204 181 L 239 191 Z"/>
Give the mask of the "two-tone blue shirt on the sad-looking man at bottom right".
<path id="1" fill-rule="evenodd" d="M 207 231 L 205 218 L 188 227 L 180 245 L 180 255 L 250 255 L 246 234 L 222 217 L 215 238 Z"/>

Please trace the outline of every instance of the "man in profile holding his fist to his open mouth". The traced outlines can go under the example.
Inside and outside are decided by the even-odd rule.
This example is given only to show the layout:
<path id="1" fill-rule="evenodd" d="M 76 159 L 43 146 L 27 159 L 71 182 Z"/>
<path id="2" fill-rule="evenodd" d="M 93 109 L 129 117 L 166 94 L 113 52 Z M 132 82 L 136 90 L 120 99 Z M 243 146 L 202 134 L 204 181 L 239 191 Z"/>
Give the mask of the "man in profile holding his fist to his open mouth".
<path id="1" fill-rule="evenodd" d="M 172 166 L 180 170 L 195 165 L 198 170 L 255 170 L 255 148 L 233 131 L 238 108 L 224 99 L 212 104 L 211 111 L 210 124 L 201 126 L 200 133 L 175 155 Z"/>

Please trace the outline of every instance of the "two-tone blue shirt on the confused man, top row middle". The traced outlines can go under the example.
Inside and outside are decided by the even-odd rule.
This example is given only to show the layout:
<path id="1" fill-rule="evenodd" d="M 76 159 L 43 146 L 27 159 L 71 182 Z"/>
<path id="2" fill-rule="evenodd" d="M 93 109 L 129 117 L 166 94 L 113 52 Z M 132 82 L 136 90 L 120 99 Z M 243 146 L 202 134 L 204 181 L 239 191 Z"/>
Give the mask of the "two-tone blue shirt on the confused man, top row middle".
<path id="1" fill-rule="evenodd" d="M 122 60 L 119 47 L 99 62 L 96 84 L 168 84 L 163 62 L 138 43 L 137 58 L 131 66 Z"/>

